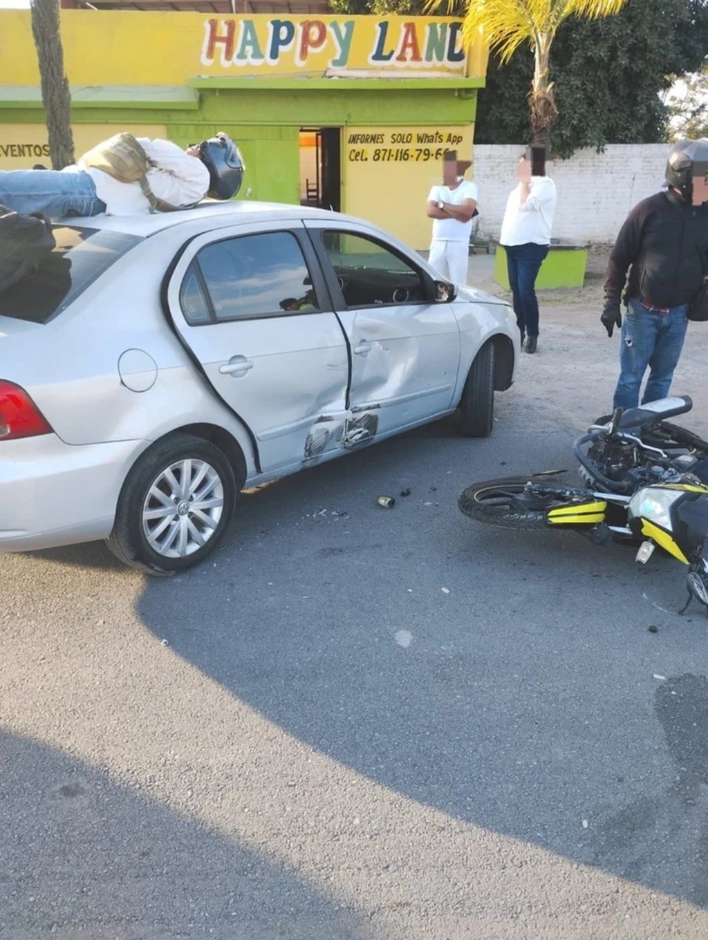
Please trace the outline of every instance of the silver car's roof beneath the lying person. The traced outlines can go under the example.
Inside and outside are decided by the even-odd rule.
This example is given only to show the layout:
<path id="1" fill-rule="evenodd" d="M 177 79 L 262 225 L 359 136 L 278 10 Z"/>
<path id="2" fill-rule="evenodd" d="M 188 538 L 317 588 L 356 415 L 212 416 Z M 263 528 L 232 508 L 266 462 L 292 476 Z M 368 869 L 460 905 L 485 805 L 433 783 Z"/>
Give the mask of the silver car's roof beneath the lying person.
<path id="1" fill-rule="evenodd" d="M 154 212 L 142 215 L 91 215 L 83 218 L 63 219 L 65 224 L 111 231 L 126 232 L 147 238 L 165 228 L 194 223 L 198 219 L 213 219 L 222 224 L 248 222 L 278 222 L 292 219 L 347 220 L 370 226 L 370 223 L 341 212 L 317 209 L 312 206 L 288 205 L 280 202 L 217 202 L 205 199 L 193 209 L 175 212 Z M 371 227 L 371 226 L 370 226 Z"/>

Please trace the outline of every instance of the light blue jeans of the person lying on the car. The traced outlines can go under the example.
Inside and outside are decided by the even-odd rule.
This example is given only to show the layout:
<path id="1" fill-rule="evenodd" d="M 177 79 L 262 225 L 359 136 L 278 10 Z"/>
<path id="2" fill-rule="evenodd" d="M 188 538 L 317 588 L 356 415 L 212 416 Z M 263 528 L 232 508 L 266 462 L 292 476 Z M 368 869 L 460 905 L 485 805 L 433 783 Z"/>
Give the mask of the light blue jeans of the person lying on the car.
<path id="1" fill-rule="evenodd" d="M 44 212 L 51 218 L 98 215 L 105 203 L 90 176 L 71 170 L 0 170 L 0 205 L 16 212 Z"/>

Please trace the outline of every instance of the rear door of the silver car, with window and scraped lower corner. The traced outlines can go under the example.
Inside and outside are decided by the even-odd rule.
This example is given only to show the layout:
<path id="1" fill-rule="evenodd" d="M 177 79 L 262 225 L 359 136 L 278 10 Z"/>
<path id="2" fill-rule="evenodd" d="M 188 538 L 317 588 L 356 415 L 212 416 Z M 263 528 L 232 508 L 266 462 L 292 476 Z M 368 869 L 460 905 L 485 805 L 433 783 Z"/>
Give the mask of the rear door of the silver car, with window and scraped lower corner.
<path id="1" fill-rule="evenodd" d="M 200 236 L 167 292 L 182 343 L 250 429 L 264 473 L 337 448 L 344 419 L 346 339 L 301 236 L 265 224 Z"/>

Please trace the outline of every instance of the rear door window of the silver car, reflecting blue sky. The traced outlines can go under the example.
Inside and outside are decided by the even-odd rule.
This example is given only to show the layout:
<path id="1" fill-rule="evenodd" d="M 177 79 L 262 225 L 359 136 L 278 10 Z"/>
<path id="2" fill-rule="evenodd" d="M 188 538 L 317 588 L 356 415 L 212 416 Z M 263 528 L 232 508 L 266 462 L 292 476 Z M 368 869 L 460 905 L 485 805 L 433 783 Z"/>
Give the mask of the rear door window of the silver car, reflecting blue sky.
<path id="1" fill-rule="evenodd" d="M 319 310 L 300 244 L 291 232 L 241 235 L 202 248 L 197 264 L 213 321 L 273 317 Z M 181 290 L 187 322 L 205 322 L 194 265 Z M 193 280 L 190 280 L 190 277 Z"/>

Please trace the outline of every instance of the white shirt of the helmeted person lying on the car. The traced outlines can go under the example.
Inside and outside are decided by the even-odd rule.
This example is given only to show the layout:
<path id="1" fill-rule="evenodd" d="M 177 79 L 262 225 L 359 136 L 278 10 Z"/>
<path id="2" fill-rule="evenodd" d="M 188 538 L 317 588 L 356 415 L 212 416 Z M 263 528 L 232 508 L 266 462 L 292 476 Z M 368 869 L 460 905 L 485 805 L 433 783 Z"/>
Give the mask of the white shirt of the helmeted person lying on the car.
<path id="1" fill-rule="evenodd" d="M 207 195 L 209 170 L 198 159 L 169 140 L 138 137 L 148 157 L 156 165 L 148 170 L 149 187 L 158 199 L 172 206 L 191 206 Z M 106 204 L 108 215 L 136 215 L 149 212 L 149 202 L 138 182 L 120 182 L 92 166 L 82 166 L 96 185 L 96 195 Z"/>

